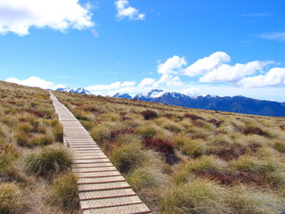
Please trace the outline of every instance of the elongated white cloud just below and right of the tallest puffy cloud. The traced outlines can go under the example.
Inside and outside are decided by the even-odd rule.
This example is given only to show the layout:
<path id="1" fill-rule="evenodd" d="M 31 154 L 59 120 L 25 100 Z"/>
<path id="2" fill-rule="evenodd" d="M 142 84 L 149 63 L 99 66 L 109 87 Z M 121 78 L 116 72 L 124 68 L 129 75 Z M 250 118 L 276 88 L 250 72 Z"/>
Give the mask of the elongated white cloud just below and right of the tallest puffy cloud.
<path id="1" fill-rule="evenodd" d="M 224 82 L 224 83 L 235 83 L 241 78 L 254 75 L 256 71 L 263 70 L 265 65 L 269 62 L 248 62 L 246 64 L 237 63 L 234 66 L 229 64 L 222 64 L 215 70 L 209 71 L 203 77 L 199 78 L 200 82 Z"/>

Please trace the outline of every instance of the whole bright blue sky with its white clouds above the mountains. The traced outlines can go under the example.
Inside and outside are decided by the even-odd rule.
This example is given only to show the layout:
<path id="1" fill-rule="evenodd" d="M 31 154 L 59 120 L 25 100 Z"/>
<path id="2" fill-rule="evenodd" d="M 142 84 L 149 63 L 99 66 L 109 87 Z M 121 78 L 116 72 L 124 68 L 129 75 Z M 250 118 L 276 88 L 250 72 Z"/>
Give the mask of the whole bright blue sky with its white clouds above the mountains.
<path id="1" fill-rule="evenodd" d="M 0 0 L 0 79 L 285 102 L 284 0 Z"/>

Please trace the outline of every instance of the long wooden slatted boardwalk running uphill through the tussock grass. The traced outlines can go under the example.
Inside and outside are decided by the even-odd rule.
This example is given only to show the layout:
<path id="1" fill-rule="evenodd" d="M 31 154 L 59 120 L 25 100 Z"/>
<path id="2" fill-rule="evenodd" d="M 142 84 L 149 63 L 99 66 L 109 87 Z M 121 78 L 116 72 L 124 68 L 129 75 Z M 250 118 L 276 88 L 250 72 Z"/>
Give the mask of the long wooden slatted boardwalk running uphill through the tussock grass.
<path id="1" fill-rule="evenodd" d="M 63 126 L 63 142 L 73 152 L 83 214 L 151 213 L 73 114 L 51 92 Z"/>

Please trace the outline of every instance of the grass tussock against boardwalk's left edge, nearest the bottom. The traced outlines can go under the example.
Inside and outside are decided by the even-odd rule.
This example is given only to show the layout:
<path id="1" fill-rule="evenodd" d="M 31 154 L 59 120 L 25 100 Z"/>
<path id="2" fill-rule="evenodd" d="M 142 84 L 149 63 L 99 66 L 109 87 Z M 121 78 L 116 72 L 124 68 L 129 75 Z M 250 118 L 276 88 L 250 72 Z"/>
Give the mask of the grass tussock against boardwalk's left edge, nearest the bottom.
<path id="1" fill-rule="evenodd" d="M 54 200 L 60 202 L 64 210 L 77 210 L 79 199 L 77 193 L 77 177 L 67 172 L 53 181 Z"/>

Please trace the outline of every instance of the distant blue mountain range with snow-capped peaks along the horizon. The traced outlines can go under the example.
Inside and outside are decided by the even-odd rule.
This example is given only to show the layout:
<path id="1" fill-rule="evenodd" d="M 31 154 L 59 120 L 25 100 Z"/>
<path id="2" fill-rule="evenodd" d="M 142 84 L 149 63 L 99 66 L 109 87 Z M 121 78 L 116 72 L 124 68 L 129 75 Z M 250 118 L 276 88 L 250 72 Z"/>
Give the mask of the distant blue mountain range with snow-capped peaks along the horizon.
<path id="1" fill-rule="evenodd" d="M 58 88 L 56 90 L 92 95 L 89 91 L 81 87 L 78 87 L 76 89 Z M 189 95 L 183 95 L 181 93 L 153 89 L 148 93 L 135 95 L 134 97 L 128 94 L 119 93 L 113 95 L 113 97 L 164 103 L 195 109 L 229 111 L 261 116 L 285 117 L 285 103 L 256 100 L 240 95 L 224 97 L 206 95 L 191 97 Z"/>

